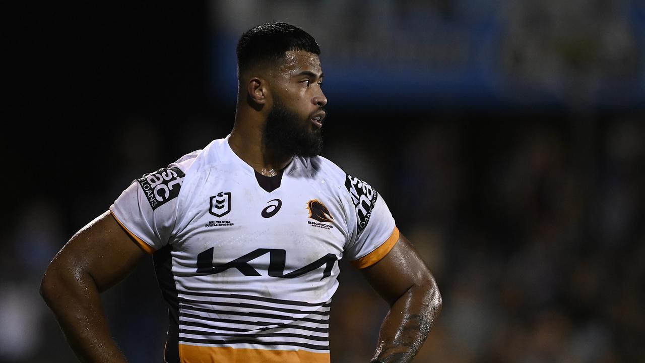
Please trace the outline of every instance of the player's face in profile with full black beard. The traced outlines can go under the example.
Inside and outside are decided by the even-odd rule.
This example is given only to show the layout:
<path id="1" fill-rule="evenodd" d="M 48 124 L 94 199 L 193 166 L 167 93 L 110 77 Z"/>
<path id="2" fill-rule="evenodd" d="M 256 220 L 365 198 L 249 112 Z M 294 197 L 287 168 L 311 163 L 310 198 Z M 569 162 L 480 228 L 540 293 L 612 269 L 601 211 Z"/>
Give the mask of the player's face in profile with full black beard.
<path id="1" fill-rule="evenodd" d="M 286 52 L 271 79 L 273 105 L 264 127 L 264 145 L 284 154 L 319 154 L 327 103 L 319 57 L 304 50 Z"/>

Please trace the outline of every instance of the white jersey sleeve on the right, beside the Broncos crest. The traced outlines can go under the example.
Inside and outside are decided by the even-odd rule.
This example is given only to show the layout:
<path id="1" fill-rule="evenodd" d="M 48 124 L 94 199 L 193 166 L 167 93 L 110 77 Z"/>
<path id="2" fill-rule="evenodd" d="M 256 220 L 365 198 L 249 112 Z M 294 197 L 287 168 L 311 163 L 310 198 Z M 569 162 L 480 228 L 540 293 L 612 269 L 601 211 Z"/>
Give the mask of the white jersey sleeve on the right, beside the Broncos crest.
<path id="1" fill-rule="evenodd" d="M 350 224 L 355 233 L 344 253 L 352 265 L 364 269 L 390 252 L 399 240 L 399 229 L 390 209 L 372 186 L 347 175 L 345 188 L 350 194 Z"/>

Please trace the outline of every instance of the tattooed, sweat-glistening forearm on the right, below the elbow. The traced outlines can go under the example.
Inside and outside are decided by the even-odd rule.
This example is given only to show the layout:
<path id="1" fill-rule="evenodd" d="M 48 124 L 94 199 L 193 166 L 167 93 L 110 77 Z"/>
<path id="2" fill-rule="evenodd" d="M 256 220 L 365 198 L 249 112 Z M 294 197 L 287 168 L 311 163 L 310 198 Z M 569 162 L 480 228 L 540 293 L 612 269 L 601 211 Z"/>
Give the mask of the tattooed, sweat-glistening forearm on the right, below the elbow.
<path id="1" fill-rule="evenodd" d="M 435 284 L 413 285 L 390 307 L 379 333 L 374 362 L 411 362 L 441 311 Z"/>

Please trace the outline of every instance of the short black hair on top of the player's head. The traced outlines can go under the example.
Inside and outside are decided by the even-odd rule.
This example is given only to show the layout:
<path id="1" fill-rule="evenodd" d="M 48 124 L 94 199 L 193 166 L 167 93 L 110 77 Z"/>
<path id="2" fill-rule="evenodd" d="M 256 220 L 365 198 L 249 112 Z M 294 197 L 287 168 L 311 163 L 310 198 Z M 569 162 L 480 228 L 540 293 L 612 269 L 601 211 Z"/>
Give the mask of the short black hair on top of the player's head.
<path id="1" fill-rule="evenodd" d="M 321 54 L 316 40 L 297 26 L 280 22 L 254 26 L 237 42 L 237 68 L 241 73 L 255 63 L 279 61 L 289 50 Z"/>

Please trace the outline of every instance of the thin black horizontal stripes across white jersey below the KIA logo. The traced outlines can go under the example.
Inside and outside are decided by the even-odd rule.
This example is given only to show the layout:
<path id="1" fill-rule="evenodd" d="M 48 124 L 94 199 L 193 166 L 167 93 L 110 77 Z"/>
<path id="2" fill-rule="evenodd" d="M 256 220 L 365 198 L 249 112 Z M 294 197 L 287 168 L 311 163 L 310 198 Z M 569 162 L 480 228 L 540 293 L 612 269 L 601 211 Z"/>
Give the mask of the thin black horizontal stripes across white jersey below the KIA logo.
<path id="1" fill-rule="evenodd" d="M 329 352 L 331 300 L 179 291 L 179 342 L 249 349 Z"/>

